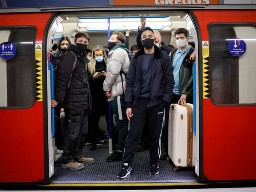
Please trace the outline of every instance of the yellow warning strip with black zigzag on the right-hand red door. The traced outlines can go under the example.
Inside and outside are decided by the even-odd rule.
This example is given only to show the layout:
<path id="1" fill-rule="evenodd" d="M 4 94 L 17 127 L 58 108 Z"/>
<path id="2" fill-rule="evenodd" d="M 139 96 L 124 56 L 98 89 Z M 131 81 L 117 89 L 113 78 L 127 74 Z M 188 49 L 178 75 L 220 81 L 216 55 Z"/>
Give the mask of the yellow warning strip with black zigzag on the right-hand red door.
<path id="1" fill-rule="evenodd" d="M 203 50 L 203 98 L 209 98 L 209 42 L 202 42 Z"/>

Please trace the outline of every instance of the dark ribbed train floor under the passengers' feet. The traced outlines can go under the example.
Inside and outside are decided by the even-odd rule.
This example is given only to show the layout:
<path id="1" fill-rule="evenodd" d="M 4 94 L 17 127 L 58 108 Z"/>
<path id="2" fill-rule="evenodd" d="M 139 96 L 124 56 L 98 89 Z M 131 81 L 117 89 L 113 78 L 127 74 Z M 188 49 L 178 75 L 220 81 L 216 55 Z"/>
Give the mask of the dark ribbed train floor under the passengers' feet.
<path id="1" fill-rule="evenodd" d="M 51 183 L 177 183 L 177 182 L 198 182 L 193 169 L 184 169 L 178 172 L 173 171 L 171 161 L 159 160 L 160 171 L 156 176 L 149 174 L 149 150 L 136 152 L 132 162 L 133 172 L 125 179 L 118 179 L 116 174 L 121 168 L 122 162 L 107 162 L 108 142 L 94 151 L 90 146 L 84 146 L 84 156 L 94 158 L 95 162 L 86 165 L 82 170 L 68 170 L 61 168 L 60 159 L 54 162 L 54 175 Z M 59 150 L 58 150 L 59 152 Z"/>

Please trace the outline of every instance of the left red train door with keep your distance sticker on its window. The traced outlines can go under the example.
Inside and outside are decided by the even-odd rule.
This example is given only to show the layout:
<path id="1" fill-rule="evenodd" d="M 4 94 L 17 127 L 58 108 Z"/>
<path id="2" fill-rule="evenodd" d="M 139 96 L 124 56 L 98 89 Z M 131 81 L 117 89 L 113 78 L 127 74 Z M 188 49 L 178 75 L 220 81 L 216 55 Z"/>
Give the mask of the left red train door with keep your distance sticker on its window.
<path id="1" fill-rule="evenodd" d="M 47 94 L 42 55 L 46 53 L 42 46 L 51 16 L 0 16 L 0 182 L 49 180 L 47 109 L 43 104 Z M 8 54 L 12 58 L 6 57 Z"/>

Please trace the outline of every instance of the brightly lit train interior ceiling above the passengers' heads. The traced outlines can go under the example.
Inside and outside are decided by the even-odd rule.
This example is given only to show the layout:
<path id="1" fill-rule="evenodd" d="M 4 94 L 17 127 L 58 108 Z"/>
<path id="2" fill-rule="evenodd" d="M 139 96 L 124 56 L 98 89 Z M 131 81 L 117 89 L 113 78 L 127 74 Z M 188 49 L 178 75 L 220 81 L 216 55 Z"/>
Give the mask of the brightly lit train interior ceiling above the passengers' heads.
<path id="1" fill-rule="evenodd" d="M 190 30 L 186 18 L 188 14 L 185 12 L 162 12 L 162 13 L 107 13 L 107 14 L 60 14 L 54 20 L 51 32 L 54 32 L 54 48 L 58 39 L 62 35 L 74 40 L 76 32 L 86 32 L 90 36 L 88 48 L 93 49 L 96 45 L 104 46 L 105 50 L 108 44 L 108 18 L 110 18 L 110 32 L 131 30 L 129 36 L 130 47 L 136 44 L 136 34 L 140 25 L 140 18 L 146 18 L 146 26 L 150 26 L 153 30 L 158 30 L 163 38 L 165 45 L 171 44 L 175 48 L 176 39 L 173 34 L 177 28 L 183 27 Z M 191 33 L 190 33 L 191 34 Z M 192 35 L 190 41 L 193 41 Z"/>

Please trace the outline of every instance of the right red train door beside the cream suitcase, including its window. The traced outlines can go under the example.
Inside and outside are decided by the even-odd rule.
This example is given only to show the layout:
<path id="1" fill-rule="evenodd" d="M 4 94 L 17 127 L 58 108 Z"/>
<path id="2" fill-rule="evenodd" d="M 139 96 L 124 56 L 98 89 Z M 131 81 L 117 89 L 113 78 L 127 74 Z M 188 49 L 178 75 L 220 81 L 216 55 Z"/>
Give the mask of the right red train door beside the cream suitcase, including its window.
<path id="1" fill-rule="evenodd" d="M 195 10 L 200 74 L 200 180 L 255 180 L 256 11 Z"/>

